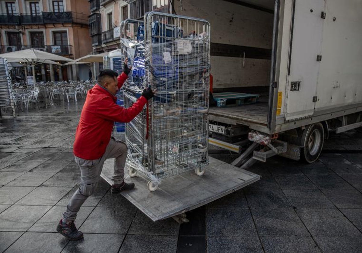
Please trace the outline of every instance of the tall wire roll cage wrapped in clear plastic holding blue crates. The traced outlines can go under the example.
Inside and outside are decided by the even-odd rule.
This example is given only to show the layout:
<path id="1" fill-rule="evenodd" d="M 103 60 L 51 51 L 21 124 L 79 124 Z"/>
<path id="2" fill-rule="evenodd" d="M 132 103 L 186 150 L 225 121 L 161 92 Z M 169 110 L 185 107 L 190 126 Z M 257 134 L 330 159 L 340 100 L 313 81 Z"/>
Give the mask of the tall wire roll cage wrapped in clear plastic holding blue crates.
<path id="1" fill-rule="evenodd" d="M 210 24 L 206 20 L 148 12 L 137 36 L 122 37 L 132 75 L 123 92 L 125 107 L 145 88 L 156 89 L 146 109 L 126 124 L 129 174 L 159 180 L 208 163 Z M 130 76 L 130 75 L 129 75 Z"/>

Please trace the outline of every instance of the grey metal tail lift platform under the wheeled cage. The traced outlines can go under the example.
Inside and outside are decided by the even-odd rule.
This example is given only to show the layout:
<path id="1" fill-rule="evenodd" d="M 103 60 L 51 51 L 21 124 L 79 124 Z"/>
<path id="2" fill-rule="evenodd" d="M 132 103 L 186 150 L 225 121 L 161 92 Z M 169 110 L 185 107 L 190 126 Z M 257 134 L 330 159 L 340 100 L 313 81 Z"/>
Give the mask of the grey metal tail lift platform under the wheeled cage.
<path id="1" fill-rule="evenodd" d="M 126 170 L 127 167 L 125 175 Z M 108 159 L 101 176 L 112 184 L 112 175 L 113 159 Z M 164 178 L 155 192 L 147 189 L 142 177 L 128 176 L 127 183 L 135 183 L 135 189 L 121 194 L 150 219 L 157 221 L 206 205 L 259 179 L 259 175 L 209 156 L 209 165 L 202 176 L 187 171 Z"/>

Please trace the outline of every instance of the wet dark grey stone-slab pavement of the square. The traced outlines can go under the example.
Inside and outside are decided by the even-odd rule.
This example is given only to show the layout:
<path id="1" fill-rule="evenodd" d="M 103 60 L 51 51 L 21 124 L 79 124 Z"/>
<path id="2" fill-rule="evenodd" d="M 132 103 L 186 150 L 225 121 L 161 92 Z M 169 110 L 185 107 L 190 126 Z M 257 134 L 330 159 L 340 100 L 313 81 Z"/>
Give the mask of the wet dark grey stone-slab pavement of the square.
<path id="1" fill-rule="evenodd" d="M 76 220 L 84 240 L 64 239 L 55 226 L 80 180 L 72 144 L 82 105 L 0 119 L 0 252 L 361 252 L 361 129 L 331 136 L 313 164 L 255 164 L 260 181 L 181 226 L 152 222 L 101 180 Z"/>

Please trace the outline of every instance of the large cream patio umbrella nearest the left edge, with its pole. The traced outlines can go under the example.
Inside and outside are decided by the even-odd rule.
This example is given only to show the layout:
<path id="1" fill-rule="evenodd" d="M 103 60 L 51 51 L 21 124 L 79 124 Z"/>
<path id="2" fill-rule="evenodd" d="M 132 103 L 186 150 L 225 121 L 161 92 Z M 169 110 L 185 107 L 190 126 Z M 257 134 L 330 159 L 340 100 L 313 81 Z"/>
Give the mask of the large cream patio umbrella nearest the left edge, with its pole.
<path id="1" fill-rule="evenodd" d="M 48 53 L 36 49 L 25 49 L 20 51 L 14 51 L 10 53 L 2 53 L 0 57 L 6 58 L 8 61 L 16 60 L 16 62 L 21 62 L 22 64 L 31 65 L 33 68 L 33 78 L 35 81 L 35 65 L 45 63 L 46 60 L 51 61 L 73 61 L 73 59 L 66 58 L 63 56 L 55 55 L 54 53 Z M 21 61 L 18 61 L 21 60 Z M 55 63 L 51 63 L 55 64 Z M 25 72 L 25 75 L 27 73 Z"/>

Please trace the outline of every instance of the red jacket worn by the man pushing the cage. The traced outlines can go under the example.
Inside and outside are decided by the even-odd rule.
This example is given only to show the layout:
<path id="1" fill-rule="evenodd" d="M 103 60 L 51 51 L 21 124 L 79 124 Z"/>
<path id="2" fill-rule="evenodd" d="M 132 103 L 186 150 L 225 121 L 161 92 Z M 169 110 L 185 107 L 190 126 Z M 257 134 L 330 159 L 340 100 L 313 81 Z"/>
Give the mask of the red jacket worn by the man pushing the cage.
<path id="1" fill-rule="evenodd" d="M 118 76 L 118 87 L 123 85 L 127 75 Z M 106 151 L 114 121 L 130 122 L 146 104 L 147 99 L 140 97 L 130 108 L 116 104 L 117 98 L 108 90 L 96 84 L 87 93 L 75 133 L 73 153 L 79 158 L 95 160 Z"/>

